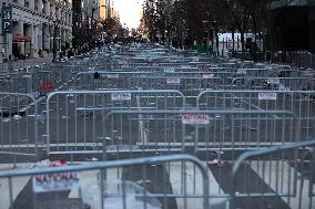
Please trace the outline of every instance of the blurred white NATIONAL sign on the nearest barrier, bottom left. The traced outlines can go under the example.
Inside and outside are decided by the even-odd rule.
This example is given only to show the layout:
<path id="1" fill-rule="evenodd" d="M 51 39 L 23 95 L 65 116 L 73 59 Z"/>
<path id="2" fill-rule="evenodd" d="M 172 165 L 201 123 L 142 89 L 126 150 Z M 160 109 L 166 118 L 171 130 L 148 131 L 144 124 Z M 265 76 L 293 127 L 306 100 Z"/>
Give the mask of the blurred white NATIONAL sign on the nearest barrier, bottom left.
<path id="1" fill-rule="evenodd" d="M 32 178 L 34 192 L 71 190 L 80 186 L 79 173 L 39 175 Z"/>

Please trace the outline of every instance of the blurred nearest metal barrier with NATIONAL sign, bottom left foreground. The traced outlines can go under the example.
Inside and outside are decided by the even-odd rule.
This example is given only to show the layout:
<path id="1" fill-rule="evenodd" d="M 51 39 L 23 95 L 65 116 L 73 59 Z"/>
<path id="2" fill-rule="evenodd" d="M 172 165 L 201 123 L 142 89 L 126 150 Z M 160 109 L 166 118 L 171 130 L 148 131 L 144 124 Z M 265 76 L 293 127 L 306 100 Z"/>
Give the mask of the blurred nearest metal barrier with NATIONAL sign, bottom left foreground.
<path id="1" fill-rule="evenodd" d="M 210 208 L 206 167 L 187 155 L 17 169 L 0 182 L 1 209 Z"/>

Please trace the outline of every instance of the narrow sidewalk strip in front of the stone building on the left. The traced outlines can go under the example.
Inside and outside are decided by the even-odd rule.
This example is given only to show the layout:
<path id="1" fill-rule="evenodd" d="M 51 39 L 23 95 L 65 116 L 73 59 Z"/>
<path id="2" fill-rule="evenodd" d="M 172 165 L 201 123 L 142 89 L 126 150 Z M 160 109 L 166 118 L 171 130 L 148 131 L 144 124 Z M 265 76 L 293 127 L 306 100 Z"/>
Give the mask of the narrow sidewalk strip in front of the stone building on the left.
<path id="1" fill-rule="evenodd" d="M 17 60 L 14 62 L 7 62 L 0 64 L 0 73 L 8 73 L 9 72 L 9 66 L 12 70 L 17 69 L 23 69 L 27 66 L 35 66 L 35 65 L 42 65 L 44 63 L 51 63 L 52 62 L 52 53 L 50 53 L 45 58 L 37 58 L 37 59 L 28 59 L 28 60 Z"/>

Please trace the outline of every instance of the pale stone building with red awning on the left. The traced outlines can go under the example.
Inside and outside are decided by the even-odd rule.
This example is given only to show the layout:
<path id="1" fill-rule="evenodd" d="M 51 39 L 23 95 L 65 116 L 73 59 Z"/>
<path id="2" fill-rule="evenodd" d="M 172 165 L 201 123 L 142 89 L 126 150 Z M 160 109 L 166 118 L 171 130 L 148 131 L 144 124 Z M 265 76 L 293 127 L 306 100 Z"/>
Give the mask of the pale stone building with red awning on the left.
<path id="1" fill-rule="evenodd" d="M 1 25 L 2 60 L 45 56 L 71 44 L 71 0 L 7 0 L 1 7 L 11 9 L 10 31 Z"/>

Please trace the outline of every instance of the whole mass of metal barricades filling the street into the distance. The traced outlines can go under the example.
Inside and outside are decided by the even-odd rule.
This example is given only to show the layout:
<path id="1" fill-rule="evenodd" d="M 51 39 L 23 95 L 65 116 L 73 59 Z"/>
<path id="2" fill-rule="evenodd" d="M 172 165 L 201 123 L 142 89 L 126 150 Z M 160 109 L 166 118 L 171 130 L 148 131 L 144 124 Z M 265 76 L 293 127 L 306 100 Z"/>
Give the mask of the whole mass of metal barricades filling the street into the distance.
<path id="1" fill-rule="evenodd" d="M 0 173 L 2 208 L 315 208 L 312 70 L 131 44 L 26 71 L 0 159 L 50 161 Z"/>

